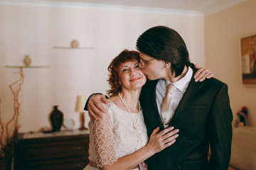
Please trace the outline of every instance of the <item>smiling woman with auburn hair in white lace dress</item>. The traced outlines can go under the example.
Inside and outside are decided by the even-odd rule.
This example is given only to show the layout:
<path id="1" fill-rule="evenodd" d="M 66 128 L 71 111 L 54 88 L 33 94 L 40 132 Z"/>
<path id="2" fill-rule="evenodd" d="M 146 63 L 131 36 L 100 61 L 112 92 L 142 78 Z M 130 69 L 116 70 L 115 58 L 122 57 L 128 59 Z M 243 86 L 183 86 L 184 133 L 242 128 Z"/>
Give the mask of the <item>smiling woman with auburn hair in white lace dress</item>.
<path id="1" fill-rule="evenodd" d="M 146 77 L 139 68 L 139 52 L 124 50 L 108 70 L 111 89 L 107 113 L 90 122 L 90 164 L 85 170 L 146 169 L 144 160 L 174 144 L 178 130 L 156 128 L 149 139 L 139 105 Z"/>

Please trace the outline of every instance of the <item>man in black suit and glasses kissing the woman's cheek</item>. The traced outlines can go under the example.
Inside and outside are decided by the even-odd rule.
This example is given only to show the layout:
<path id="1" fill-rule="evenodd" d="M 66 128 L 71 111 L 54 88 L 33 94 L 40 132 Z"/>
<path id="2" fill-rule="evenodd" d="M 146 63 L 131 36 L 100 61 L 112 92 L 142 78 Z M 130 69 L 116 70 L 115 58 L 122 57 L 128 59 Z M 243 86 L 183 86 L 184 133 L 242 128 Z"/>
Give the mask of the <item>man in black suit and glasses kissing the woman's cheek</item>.
<path id="1" fill-rule="evenodd" d="M 227 170 L 233 120 L 228 86 L 214 78 L 194 81 L 196 68 L 189 61 L 186 44 L 171 28 L 146 30 L 137 40 L 137 50 L 139 67 L 151 80 L 139 99 L 148 135 L 158 126 L 179 129 L 174 145 L 146 161 L 148 169 Z M 166 111 L 167 86 L 174 86 L 174 92 Z M 92 103 L 90 113 L 100 108 Z"/>

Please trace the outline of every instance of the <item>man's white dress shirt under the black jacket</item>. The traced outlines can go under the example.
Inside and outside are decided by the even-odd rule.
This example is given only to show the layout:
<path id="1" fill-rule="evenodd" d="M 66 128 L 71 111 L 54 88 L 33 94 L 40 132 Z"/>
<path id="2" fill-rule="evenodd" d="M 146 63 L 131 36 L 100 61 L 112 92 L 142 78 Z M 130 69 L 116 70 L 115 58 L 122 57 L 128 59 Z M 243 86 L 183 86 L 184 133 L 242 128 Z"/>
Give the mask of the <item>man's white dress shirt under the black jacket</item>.
<path id="1" fill-rule="evenodd" d="M 186 89 L 188 88 L 188 84 L 189 84 L 189 81 L 191 81 L 192 76 L 193 76 L 193 70 L 191 69 L 191 67 L 188 67 L 188 72 L 186 73 L 186 75 L 182 79 L 176 81 L 175 83 L 171 83 L 170 81 L 166 81 L 165 79 L 159 79 L 159 82 L 156 84 L 156 103 L 157 103 L 157 108 L 159 110 L 160 117 L 161 117 L 162 102 L 166 94 L 166 86 L 168 86 L 168 84 L 170 83 L 176 86 L 173 96 L 171 97 L 171 104 L 170 104 L 170 114 L 172 118 L 174 116 L 174 112 L 176 111 L 176 108 L 178 107 L 178 103 L 181 101 L 181 98 L 183 97 L 183 95 L 186 92 Z"/>

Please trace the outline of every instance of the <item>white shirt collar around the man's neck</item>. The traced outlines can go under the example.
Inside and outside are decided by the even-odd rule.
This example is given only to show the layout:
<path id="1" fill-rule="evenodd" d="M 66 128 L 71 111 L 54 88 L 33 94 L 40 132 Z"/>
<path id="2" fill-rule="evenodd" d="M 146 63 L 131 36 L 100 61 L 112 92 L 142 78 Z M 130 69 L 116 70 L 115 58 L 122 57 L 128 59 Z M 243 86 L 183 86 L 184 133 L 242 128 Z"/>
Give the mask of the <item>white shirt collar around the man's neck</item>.
<path id="1" fill-rule="evenodd" d="M 166 89 L 168 84 L 174 84 L 174 86 L 176 86 L 178 90 L 183 91 L 186 88 L 186 85 L 188 84 L 188 82 L 191 81 L 192 76 L 193 76 L 193 70 L 191 69 L 191 67 L 188 67 L 188 72 L 186 72 L 186 75 L 181 79 L 179 79 L 178 81 L 176 81 L 175 83 L 171 83 L 170 81 L 165 80 L 163 82 L 164 88 Z"/>

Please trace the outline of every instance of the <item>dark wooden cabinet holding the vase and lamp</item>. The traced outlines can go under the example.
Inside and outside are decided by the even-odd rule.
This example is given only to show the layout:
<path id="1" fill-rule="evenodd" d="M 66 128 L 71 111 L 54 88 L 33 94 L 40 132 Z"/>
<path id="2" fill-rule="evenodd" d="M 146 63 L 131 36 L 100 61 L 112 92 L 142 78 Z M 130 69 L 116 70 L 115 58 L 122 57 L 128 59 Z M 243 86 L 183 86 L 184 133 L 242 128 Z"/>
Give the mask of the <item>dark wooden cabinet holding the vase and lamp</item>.
<path id="1" fill-rule="evenodd" d="M 88 146 L 88 130 L 18 134 L 14 169 L 81 170 L 89 163 Z"/>

